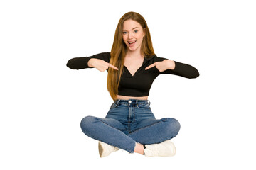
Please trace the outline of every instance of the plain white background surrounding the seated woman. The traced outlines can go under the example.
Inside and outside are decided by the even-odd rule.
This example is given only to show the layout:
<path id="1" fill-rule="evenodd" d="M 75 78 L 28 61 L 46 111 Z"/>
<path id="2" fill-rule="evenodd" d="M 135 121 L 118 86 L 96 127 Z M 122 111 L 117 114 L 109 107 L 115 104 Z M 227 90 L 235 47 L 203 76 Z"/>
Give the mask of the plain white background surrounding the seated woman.
<path id="1" fill-rule="evenodd" d="M 253 1 L 1 1 L 0 169 L 255 169 L 256 11 Z M 100 159 L 80 130 L 105 117 L 107 72 L 72 70 L 70 58 L 110 52 L 124 13 L 146 19 L 156 55 L 197 79 L 156 78 L 156 118 L 181 131 L 175 157 L 119 150 Z"/>

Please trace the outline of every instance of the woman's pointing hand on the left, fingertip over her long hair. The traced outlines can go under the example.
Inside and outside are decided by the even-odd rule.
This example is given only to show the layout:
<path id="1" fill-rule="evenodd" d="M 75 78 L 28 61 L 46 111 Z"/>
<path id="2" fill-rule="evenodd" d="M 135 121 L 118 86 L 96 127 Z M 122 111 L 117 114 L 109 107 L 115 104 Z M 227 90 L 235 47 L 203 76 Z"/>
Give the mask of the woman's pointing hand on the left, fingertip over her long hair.
<path id="1" fill-rule="evenodd" d="M 114 67 L 112 64 L 105 62 L 104 60 L 96 59 L 96 58 L 91 58 L 88 61 L 88 66 L 89 67 L 94 67 L 97 70 L 100 70 L 100 72 L 104 72 L 108 67 L 112 67 L 113 69 L 118 70 L 117 67 Z"/>

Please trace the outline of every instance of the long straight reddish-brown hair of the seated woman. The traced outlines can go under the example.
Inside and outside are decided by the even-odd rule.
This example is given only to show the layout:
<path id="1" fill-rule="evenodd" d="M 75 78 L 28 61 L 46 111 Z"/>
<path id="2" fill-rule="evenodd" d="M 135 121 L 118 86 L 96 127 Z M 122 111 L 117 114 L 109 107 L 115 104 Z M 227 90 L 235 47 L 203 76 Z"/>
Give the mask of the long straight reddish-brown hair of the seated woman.
<path id="1" fill-rule="evenodd" d="M 137 21 L 145 30 L 141 46 L 142 55 L 145 57 L 154 55 L 149 28 L 143 16 L 136 12 L 125 13 L 117 24 L 117 28 L 114 33 L 114 42 L 110 52 L 110 64 L 118 68 L 118 70 L 116 70 L 109 67 L 107 74 L 107 90 L 110 92 L 110 96 L 113 100 L 117 99 L 118 86 L 124 69 L 124 57 L 127 55 L 127 45 L 124 43 L 122 38 L 123 23 L 129 19 Z"/>

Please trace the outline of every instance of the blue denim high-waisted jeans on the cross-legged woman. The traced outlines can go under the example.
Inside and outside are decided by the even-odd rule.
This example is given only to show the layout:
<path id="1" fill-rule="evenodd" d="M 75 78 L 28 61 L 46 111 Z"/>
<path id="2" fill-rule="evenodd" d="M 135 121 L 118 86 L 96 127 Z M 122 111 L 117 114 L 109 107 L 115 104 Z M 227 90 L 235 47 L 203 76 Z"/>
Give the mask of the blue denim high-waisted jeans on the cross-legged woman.
<path id="1" fill-rule="evenodd" d="M 95 140 L 134 152 L 136 142 L 144 145 L 170 140 L 180 124 L 174 118 L 156 120 L 148 100 L 115 100 L 105 118 L 86 116 L 82 132 Z"/>

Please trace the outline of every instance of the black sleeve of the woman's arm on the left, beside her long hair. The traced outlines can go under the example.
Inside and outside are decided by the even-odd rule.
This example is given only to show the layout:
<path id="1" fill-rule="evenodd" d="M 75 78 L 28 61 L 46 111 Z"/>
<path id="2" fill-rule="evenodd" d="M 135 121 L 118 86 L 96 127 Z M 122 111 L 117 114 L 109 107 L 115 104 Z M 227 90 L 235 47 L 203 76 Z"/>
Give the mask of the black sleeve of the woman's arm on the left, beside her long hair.
<path id="1" fill-rule="evenodd" d="M 88 61 L 91 58 L 97 58 L 100 60 L 104 60 L 105 62 L 110 62 L 110 52 L 102 52 L 97 55 L 92 55 L 90 57 L 75 57 L 73 59 L 68 60 L 67 67 L 70 69 L 87 69 L 93 68 L 88 66 Z"/>

